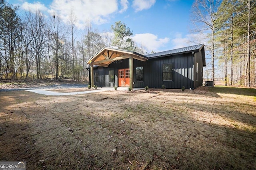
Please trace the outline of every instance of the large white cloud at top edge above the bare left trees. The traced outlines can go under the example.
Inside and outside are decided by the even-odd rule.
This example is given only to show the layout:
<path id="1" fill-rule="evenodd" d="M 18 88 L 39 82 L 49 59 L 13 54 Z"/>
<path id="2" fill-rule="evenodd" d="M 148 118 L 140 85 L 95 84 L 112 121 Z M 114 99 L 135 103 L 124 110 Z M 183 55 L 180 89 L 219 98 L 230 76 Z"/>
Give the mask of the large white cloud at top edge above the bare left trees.
<path id="1" fill-rule="evenodd" d="M 54 0 L 49 12 L 60 16 L 64 22 L 68 22 L 71 11 L 76 16 L 76 26 L 80 29 L 88 21 L 100 25 L 106 23 L 110 14 L 118 10 L 117 1 L 81 1 L 81 0 Z"/>

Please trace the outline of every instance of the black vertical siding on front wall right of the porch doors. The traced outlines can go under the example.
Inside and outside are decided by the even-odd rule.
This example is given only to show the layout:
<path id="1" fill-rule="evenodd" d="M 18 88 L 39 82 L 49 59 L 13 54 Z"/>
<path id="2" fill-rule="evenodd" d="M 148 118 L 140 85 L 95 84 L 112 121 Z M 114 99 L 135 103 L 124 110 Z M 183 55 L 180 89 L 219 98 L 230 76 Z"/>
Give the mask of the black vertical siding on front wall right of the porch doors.
<path id="1" fill-rule="evenodd" d="M 144 66 L 144 81 L 134 82 L 135 88 L 162 88 L 164 84 L 166 88 L 194 88 L 193 63 L 192 53 L 181 54 L 175 56 L 166 56 L 155 59 L 148 59 L 148 61 L 134 61 L 134 69 L 138 66 Z M 173 64 L 173 80 L 163 81 L 162 66 L 163 64 Z M 135 72 L 135 70 L 134 70 Z M 134 75 L 136 77 L 136 75 Z"/>

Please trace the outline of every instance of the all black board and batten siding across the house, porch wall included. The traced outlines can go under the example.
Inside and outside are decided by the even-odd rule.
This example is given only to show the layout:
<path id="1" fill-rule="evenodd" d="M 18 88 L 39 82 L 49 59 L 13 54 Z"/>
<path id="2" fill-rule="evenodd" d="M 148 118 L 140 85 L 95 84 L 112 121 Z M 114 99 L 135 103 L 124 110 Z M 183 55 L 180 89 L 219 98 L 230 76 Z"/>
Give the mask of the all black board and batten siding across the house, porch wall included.
<path id="1" fill-rule="evenodd" d="M 196 55 L 199 55 L 199 53 L 196 53 Z M 200 59 L 200 57 L 198 57 L 198 59 Z M 163 64 L 169 63 L 173 64 L 173 80 L 163 81 L 162 66 Z M 200 62 L 198 61 L 198 63 Z M 202 63 L 200 64 L 202 65 Z M 201 65 L 198 65 L 200 68 L 197 73 L 198 77 L 201 77 L 202 75 Z M 136 67 L 140 66 L 143 66 L 143 81 L 136 81 Z M 118 69 L 124 68 L 129 68 L 129 59 L 111 63 L 108 67 L 99 66 L 94 68 L 94 75 L 95 72 L 98 72 L 99 74 L 98 82 L 96 82 L 94 76 L 94 84 L 98 87 L 118 87 Z M 109 82 L 110 70 L 114 70 L 114 82 Z M 149 59 L 146 62 L 134 59 L 134 88 L 144 88 L 145 86 L 148 86 L 149 88 L 162 88 L 163 84 L 166 88 L 181 88 L 182 86 L 186 89 L 196 88 L 202 85 L 202 79 L 194 84 L 193 79 L 195 74 L 194 55 L 192 55 L 192 53 Z"/>

